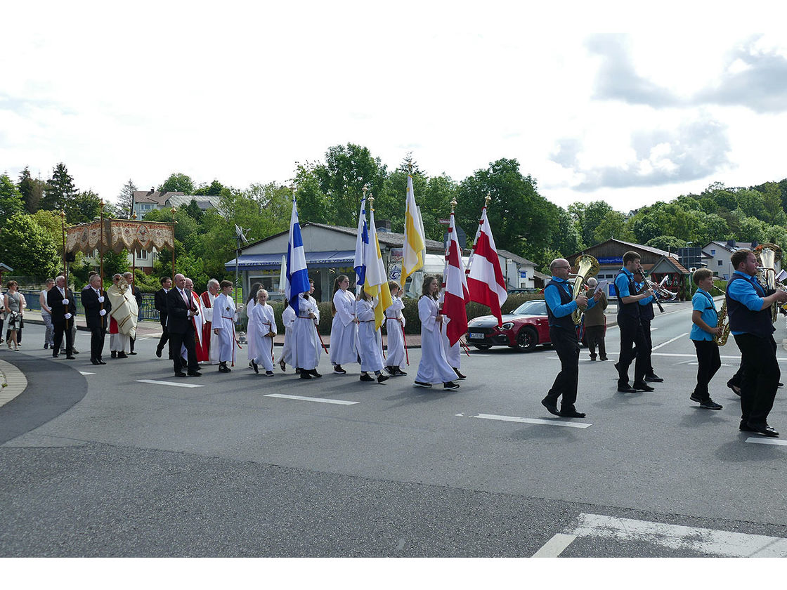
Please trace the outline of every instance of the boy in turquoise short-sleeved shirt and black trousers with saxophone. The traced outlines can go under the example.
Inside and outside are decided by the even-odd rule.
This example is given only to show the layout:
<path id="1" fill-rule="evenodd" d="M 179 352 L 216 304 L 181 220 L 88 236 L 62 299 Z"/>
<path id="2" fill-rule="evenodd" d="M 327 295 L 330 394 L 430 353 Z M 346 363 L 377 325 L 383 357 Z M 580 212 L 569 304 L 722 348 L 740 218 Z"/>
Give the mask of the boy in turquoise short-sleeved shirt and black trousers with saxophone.
<path id="1" fill-rule="evenodd" d="M 708 383 L 722 366 L 719 345 L 714 340 L 722 334 L 722 328 L 719 327 L 719 314 L 710 293 L 713 289 L 713 272 L 708 268 L 700 268 L 694 271 L 692 280 L 699 289 L 691 298 L 691 321 L 694 325 L 691 326 L 689 339 L 696 348 L 697 368 L 696 387 L 689 399 L 707 410 L 721 410 L 722 406 L 711 400 L 711 393 L 708 392 Z"/>

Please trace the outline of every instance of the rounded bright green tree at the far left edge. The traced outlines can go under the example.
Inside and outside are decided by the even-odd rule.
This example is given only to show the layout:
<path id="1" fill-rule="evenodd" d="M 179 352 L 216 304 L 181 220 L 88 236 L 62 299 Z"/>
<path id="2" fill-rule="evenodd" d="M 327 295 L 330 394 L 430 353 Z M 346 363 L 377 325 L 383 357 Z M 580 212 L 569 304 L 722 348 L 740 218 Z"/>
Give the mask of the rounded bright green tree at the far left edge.
<path id="1" fill-rule="evenodd" d="M 17 213 L 0 230 L 0 256 L 17 275 L 54 275 L 59 256 L 50 234 L 31 216 Z"/>

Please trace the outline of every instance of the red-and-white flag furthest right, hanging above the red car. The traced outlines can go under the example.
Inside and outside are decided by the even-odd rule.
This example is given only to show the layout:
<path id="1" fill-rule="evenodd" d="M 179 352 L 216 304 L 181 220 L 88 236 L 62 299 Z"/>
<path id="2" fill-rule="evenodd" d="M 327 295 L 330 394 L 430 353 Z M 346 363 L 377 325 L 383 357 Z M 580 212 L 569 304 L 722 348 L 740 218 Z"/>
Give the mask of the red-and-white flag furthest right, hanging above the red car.
<path id="1" fill-rule="evenodd" d="M 486 206 L 481 211 L 481 220 L 478 222 L 478 233 L 475 234 L 475 247 L 467 263 L 467 289 L 470 290 L 470 301 L 484 304 L 492 315 L 497 317 L 497 325 L 503 323 L 501 306 L 508 299 L 505 289 L 503 270 L 500 267 L 500 258 L 492 237 L 492 228 L 489 219 L 486 219 Z"/>

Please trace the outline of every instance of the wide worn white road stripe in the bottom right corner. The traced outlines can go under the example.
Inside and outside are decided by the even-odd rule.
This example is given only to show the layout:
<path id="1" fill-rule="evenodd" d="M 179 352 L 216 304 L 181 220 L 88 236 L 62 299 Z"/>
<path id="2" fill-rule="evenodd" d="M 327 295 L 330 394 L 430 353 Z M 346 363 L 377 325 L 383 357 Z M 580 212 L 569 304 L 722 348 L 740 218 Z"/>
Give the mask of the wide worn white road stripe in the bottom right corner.
<path id="1" fill-rule="evenodd" d="M 576 537 L 605 537 L 621 541 L 645 540 L 678 551 L 719 557 L 787 557 L 787 539 L 782 537 L 665 525 L 600 514 L 579 514 L 577 528 L 566 533 Z"/>

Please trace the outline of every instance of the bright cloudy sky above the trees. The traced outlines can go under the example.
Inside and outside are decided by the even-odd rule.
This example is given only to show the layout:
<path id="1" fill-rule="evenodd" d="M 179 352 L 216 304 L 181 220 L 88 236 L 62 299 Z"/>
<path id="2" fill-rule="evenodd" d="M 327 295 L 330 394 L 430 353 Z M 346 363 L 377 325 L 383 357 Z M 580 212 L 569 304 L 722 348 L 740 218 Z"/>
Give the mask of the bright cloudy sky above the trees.
<path id="1" fill-rule="evenodd" d="M 348 142 L 457 182 L 515 158 L 557 205 L 623 212 L 787 178 L 777 2 L 13 4 L 14 179 L 64 162 L 109 200 L 173 172 L 245 188 Z"/>

